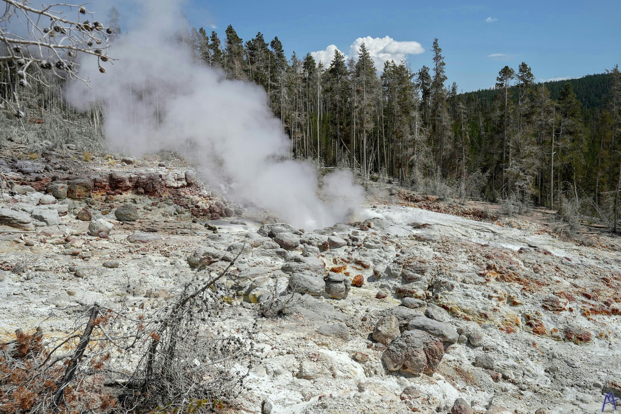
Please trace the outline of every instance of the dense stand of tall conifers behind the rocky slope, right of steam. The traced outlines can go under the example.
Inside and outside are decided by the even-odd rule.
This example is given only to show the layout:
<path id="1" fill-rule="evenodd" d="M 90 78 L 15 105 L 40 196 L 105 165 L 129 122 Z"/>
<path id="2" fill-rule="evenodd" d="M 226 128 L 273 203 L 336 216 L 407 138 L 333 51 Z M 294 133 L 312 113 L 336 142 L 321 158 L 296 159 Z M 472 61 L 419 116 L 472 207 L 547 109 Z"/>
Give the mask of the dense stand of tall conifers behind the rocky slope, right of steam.
<path id="1" fill-rule="evenodd" d="M 496 88 L 459 94 L 438 39 L 429 67 L 387 61 L 381 73 L 365 45 L 347 61 L 337 52 L 324 67 L 310 53 L 285 51 L 278 37 L 244 42 L 230 25 L 222 40 L 192 28 L 178 32 L 178 42 L 202 65 L 265 89 L 292 158 L 441 195 L 553 209 L 587 200 L 596 215 L 612 212 L 621 177 L 617 66 L 543 84 L 527 63 L 499 67 Z M 43 116 L 58 97 L 36 99 L 30 111 Z M 92 125 L 100 115 L 89 113 Z"/>

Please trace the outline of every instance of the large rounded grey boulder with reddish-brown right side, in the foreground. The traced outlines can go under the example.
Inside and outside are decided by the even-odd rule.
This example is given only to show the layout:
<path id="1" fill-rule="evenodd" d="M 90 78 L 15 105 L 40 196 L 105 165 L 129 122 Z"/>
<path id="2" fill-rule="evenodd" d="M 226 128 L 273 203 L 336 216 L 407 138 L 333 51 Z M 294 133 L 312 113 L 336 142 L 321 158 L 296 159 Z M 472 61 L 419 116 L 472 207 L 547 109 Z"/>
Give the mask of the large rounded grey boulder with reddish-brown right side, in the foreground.
<path id="1" fill-rule="evenodd" d="M 432 374 L 443 356 L 442 341 L 427 332 L 410 330 L 392 340 L 382 359 L 389 371 Z"/>

